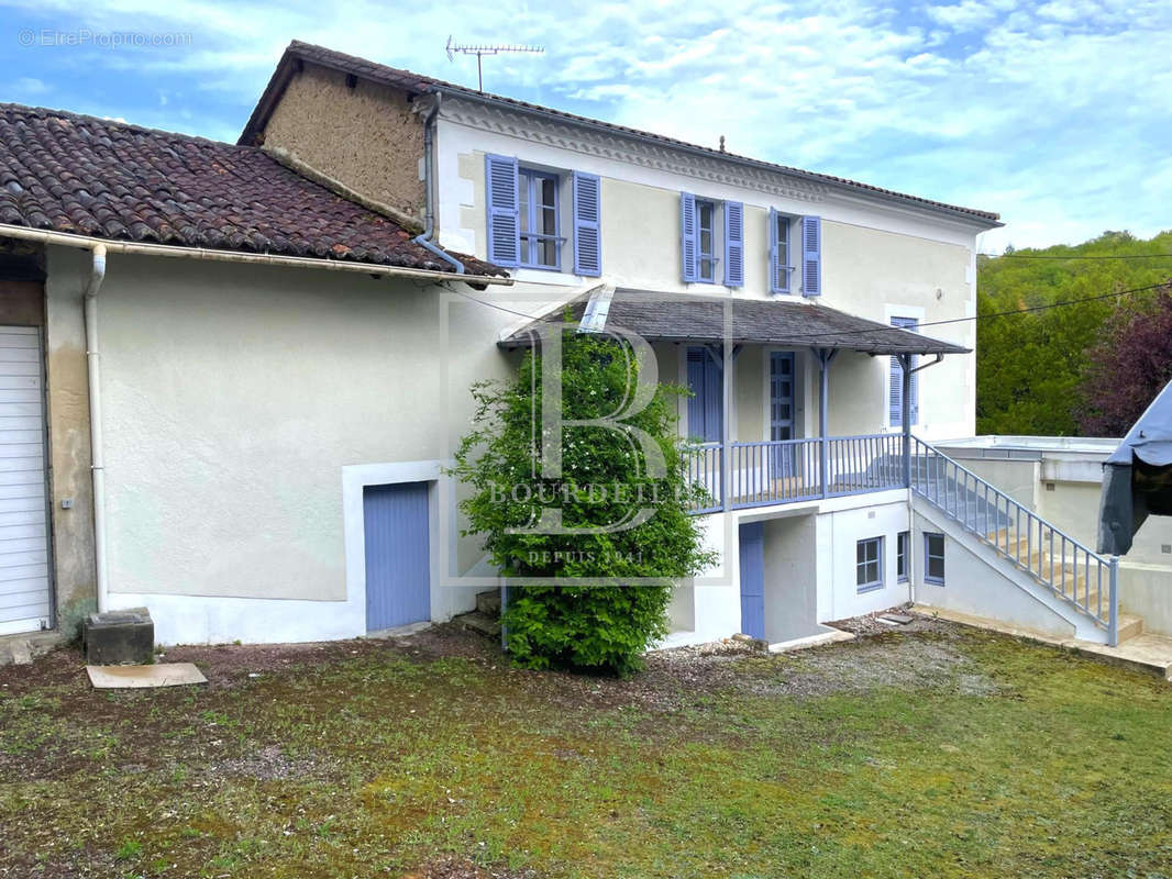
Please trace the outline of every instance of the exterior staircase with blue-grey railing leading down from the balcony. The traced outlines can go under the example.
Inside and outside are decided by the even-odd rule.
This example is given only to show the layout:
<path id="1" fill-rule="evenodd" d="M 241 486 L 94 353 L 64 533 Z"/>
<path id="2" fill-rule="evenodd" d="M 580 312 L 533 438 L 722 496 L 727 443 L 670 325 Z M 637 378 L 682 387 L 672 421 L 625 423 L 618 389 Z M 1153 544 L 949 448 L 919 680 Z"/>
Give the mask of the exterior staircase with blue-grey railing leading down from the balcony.
<path id="1" fill-rule="evenodd" d="M 959 525 L 969 540 L 990 547 L 1023 586 L 1040 587 L 1056 599 L 1057 613 L 1076 631 L 1111 647 L 1143 632 L 1140 618 L 1119 612 L 1118 559 L 1091 552 L 915 437 L 909 465 L 915 500 Z"/>

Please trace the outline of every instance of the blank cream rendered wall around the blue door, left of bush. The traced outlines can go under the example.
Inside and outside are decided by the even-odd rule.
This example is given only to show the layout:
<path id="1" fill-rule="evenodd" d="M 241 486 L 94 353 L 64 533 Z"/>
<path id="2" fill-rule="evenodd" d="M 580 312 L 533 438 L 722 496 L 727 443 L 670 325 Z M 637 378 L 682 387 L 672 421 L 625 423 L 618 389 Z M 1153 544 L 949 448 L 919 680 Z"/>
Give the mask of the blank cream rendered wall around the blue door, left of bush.
<path id="1" fill-rule="evenodd" d="M 83 267 L 76 251 L 52 257 L 53 272 Z M 495 581 L 445 585 L 479 553 L 438 529 L 452 503 L 441 468 L 469 384 L 510 374 L 495 341 L 517 318 L 451 299 L 366 275 L 110 257 L 110 606 L 150 607 L 164 642 L 362 634 L 361 486 L 425 481 L 432 619 L 470 608 Z"/>

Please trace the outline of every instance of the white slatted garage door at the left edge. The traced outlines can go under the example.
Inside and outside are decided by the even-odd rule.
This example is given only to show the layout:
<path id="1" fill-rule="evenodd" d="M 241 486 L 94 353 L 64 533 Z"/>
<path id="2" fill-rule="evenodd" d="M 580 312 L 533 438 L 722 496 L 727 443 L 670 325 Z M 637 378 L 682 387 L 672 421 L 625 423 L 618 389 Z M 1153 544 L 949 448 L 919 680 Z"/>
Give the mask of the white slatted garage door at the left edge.
<path id="1" fill-rule="evenodd" d="M 0 635 L 50 625 L 41 335 L 0 327 Z"/>

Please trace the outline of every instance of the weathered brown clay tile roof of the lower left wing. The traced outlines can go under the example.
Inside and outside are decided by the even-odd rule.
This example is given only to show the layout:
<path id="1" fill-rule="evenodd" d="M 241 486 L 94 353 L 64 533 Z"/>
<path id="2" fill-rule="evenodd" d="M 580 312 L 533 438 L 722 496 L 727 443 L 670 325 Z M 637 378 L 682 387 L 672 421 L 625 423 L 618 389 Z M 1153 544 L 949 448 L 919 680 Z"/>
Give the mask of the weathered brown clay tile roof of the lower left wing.
<path id="1" fill-rule="evenodd" d="M 452 266 L 255 146 L 0 103 L 0 223 L 110 240 Z M 472 274 L 496 266 L 452 254 Z"/>

